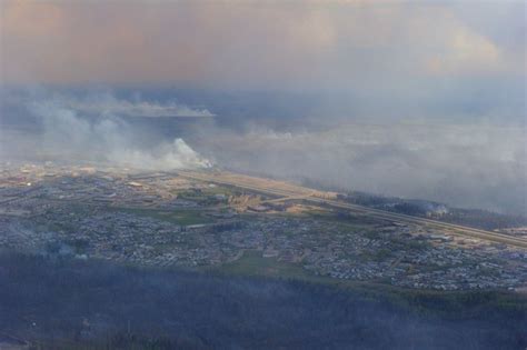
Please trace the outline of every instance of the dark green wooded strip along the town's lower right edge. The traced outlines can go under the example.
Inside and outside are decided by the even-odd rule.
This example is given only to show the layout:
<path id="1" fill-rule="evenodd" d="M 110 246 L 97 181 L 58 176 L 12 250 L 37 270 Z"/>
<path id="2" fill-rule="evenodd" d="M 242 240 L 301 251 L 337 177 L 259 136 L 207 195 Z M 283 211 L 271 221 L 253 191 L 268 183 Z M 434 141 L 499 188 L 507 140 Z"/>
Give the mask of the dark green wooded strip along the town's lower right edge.
<path id="1" fill-rule="evenodd" d="M 507 291 L 436 291 L 408 289 L 388 284 L 382 281 L 339 280 L 316 276 L 300 264 L 278 261 L 276 258 L 264 258 L 261 251 L 248 250 L 230 263 L 207 268 L 207 271 L 226 276 L 249 276 L 297 280 L 301 282 L 332 286 L 342 291 L 351 291 L 361 297 L 384 300 L 411 312 L 432 314 L 456 314 L 473 317 L 488 308 L 527 313 L 527 297 Z"/>

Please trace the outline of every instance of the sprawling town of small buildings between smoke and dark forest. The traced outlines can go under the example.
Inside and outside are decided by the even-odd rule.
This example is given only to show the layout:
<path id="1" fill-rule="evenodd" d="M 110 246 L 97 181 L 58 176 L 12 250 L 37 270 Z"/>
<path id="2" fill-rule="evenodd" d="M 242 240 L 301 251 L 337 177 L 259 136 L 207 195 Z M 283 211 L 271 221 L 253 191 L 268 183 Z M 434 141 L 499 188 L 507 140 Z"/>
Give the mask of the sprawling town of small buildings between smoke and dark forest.
<path id="1" fill-rule="evenodd" d="M 527 286 L 526 249 L 434 226 L 280 201 L 177 172 L 50 162 L 1 169 L 0 249 L 217 271 L 257 257 L 288 268 L 288 278 L 411 289 Z"/>

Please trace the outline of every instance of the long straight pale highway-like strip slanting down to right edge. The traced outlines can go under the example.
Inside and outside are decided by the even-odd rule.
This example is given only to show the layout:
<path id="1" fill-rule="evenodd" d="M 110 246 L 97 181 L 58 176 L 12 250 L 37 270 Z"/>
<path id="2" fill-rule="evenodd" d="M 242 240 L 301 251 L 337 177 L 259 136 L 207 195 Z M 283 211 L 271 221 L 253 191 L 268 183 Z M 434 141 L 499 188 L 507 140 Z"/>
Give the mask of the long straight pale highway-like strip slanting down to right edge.
<path id="1" fill-rule="evenodd" d="M 222 174 L 228 174 L 227 179 Z M 524 239 L 524 238 L 507 236 L 507 234 L 503 234 L 498 232 L 485 231 L 485 230 L 475 229 L 475 228 L 468 228 L 468 227 L 464 227 L 464 226 L 459 226 L 455 223 L 447 223 L 447 222 L 441 222 L 437 220 L 430 220 L 430 219 L 425 219 L 425 218 L 406 216 L 401 213 L 395 213 L 390 211 L 362 207 L 358 204 L 346 203 L 346 202 L 337 201 L 334 199 L 321 198 L 321 197 L 316 196 L 316 193 L 322 193 L 321 191 L 302 188 L 299 186 L 291 186 L 290 188 L 288 187 L 287 190 L 280 189 L 280 188 L 269 188 L 268 186 L 262 186 L 262 184 L 259 184 L 258 182 L 275 182 L 275 181 L 259 179 L 259 178 L 249 178 L 246 176 L 240 177 L 240 179 L 229 179 L 229 177 L 232 177 L 232 174 L 230 173 L 215 174 L 215 173 L 195 172 L 195 171 L 178 171 L 178 176 L 192 179 L 192 180 L 198 180 L 198 181 L 206 181 L 206 182 L 218 183 L 218 184 L 223 184 L 223 186 L 237 187 L 237 188 L 247 189 L 247 190 L 251 190 L 251 191 L 264 193 L 264 194 L 276 196 L 279 198 L 281 197 L 282 200 L 289 200 L 289 199 L 292 200 L 292 199 L 301 198 L 301 200 L 306 202 L 314 203 L 321 207 L 350 210 L 350 211 L 368 214 L 375 218 L 387 219 L 391 221 L 411 222 L 411 223 L 417 223 L 417 224 L 422 224 L 422 226 L 446 229 L 448 230 L 449 234 L 477 238 L 477 239 L 481 239 L 481 240 L 486 240 L 490 242 L 505 243 L 508 246 L 527 249 L 527 239 Z M 278 182 L 278 181 L 276 182 L 278 184 L 281 184 L 281 182 Z"/>

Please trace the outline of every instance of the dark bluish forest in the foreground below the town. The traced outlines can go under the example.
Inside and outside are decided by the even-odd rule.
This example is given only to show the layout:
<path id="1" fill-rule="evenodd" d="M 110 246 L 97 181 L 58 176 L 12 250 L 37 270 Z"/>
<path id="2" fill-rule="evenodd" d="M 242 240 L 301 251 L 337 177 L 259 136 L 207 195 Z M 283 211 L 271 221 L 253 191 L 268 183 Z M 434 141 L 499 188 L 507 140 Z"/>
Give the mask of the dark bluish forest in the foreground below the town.
<path id="1" fill-rule="evenodd" d="M 525 304 L 419 307 L 299 281 L 0 254 L 0 334 L 33 348 L 525 349 Z M 468 310 L 468 312 L 467 312 Z M 1 337 L 0 337 L 1 339 Z"/>

